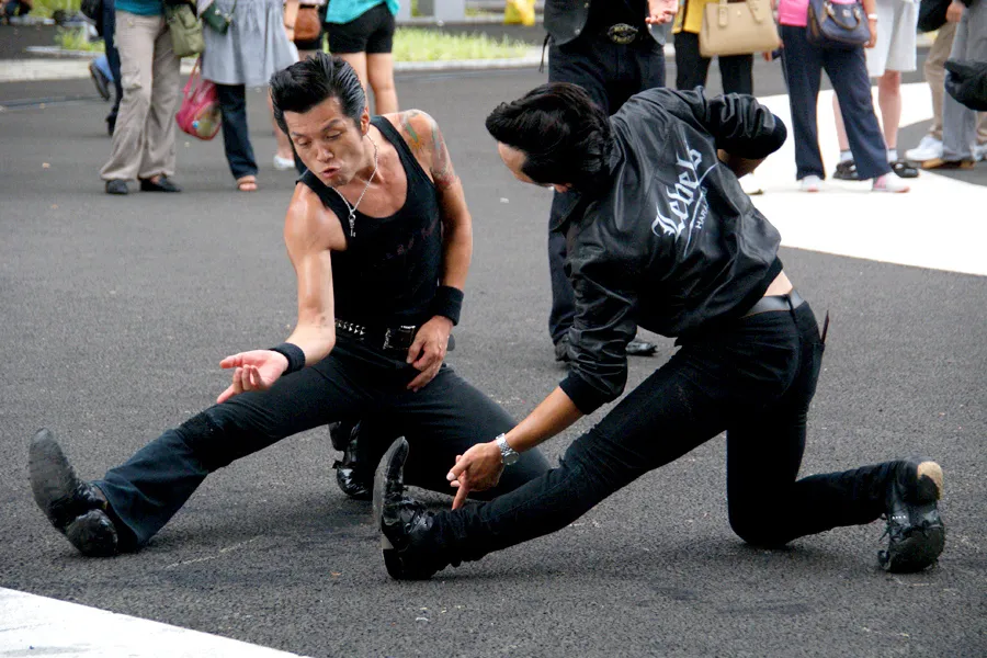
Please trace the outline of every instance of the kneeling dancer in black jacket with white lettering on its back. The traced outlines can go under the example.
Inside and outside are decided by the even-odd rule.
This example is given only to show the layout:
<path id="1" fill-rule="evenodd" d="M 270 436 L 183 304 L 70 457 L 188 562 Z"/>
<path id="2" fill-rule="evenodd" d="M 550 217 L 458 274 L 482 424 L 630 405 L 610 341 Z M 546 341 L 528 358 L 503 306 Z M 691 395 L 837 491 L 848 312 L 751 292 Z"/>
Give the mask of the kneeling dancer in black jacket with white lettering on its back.
<path id="1" fill-rule="evenodd" d="M 578 87 L 546 84 L 497 107 L 487 129 L 519 180 L 576 193 L 555 227 L 569 243 L 576 292 L 572 367 L 510 432 L 456 460 L 453 511 L 427 513 L 404 497 L 407 443 L 392 445 L 374 503 L 393 577 L 427 578 L 565 527 L 723 431 L 729 522 L 746 542 L 781 546 L 886 514 L 882 567 L 935 561 L 945 542 L 935 462 L 796 480 L 826 331 L 782 271 L 779 232 L 737 182 L 784 143 L 778 117 L 751 97 L 653 89 L 608 118 Z M 638 325 L 678 337 L 681 349 L 578 438 L 558 468 L 460 509 L 519 453 L 623 393 L 624 345 Z"/>

